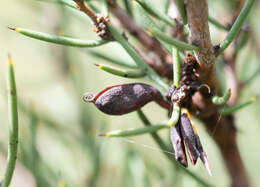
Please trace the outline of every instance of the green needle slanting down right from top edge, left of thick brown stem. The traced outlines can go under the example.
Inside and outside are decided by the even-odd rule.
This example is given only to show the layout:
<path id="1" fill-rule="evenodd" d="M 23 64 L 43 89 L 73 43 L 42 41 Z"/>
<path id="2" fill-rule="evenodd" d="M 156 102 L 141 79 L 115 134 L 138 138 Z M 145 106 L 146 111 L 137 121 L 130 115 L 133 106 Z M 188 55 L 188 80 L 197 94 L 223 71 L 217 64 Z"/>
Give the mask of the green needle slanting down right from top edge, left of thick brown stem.
<path id="1" fill-rule="evenodd" d="M 169 18 L 167 15 L 165 15 L 164 13 L 160 12 L 159 10 L 157 10 L 154 6 L 152 6 L 152 2 L 147 1 L 147 0 L 135 0 L 139 5 L 141 5 L 143 7 L 143 9 L 145 11 L 147 11 L 149 14 L 151 14 L 152 16 L 154 16 L 155 18 L 165 22 L 166 24 L 174 27 L 174 21 Z"/>

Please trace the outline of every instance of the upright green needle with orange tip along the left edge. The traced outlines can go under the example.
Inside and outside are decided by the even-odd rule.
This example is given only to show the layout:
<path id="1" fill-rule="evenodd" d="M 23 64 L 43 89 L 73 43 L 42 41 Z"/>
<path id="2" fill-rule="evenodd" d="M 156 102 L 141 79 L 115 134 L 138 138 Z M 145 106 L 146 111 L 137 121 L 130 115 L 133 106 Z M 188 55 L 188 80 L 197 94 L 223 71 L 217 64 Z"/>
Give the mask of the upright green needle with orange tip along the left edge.
<path id="1" fill-rule="evenodd" d="M 18 146 L 18 112 L 17 112 L 17 96 L 15 76 L 12 60 L 8 59 L 8 77 L 7 77 L 7 95 L 8 95 L 8 115 L 9 115 L 9 145 L 7 167 L 5 170 L 5 178 L 2 187 L 8 187 L 11 183 L 15 163 L 17 159 Z"/>

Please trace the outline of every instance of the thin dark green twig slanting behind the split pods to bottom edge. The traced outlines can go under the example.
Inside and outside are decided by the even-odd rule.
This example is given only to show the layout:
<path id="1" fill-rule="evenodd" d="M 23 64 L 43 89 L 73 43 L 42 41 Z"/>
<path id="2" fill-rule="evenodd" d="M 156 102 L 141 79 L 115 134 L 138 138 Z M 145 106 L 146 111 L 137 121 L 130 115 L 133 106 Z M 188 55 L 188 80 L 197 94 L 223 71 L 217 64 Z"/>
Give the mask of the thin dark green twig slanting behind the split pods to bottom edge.
<path id="1" fill-rule="evenodd" d="M 147 117 L 141 110 L 138 110 L 137 114 L 145 126 L 151 126 L 150 121 L 147 119 Z M 200 177 L 198 177 L 191 171 L 185 169 L 184 167 L 180 166 L 179 163 L 174 159 L 174 157 L 167 153 L 167 152 L 170 152 L 170 149 L 168 148 L 168 146 L 164 143 L 164 141 L 160 138 L 160 136 L 157 133 L 151 133 L 151 136 L 154 139 L 154 141 L 158 144 L 160 149 L 164 150 L 164 155 L 171 161 L 171 163 L 174 165 L 174 167 L 177 166 L 177 168 L 180 169 L 180 171 L 183 171 L 184 173 L 186 173 L 187 175 L 192 177 L 194 180 L 196 180 L 202 186 L 211 187 L 211 185 L 208 184 L 207 182 L 205 182 L 203 179 L 201 179 Z"/>

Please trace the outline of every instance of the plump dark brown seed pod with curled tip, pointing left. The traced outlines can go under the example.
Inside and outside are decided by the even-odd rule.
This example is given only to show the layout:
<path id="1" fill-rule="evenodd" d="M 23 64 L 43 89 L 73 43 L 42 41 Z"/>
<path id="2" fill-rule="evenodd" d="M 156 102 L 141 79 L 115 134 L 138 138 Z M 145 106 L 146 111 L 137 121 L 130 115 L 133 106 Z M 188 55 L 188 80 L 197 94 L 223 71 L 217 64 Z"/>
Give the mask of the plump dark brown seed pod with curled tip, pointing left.
<path id="1" fill-rule="evenodd" d="M 170 109 L 170 104 L 156 88 L 143 83 L 111 86 L 96 95 L 85 94 L 83 99 L 85 102 L 94 103 L 99 110 L 110 115 L 133 112 L 151 101 Z"/>

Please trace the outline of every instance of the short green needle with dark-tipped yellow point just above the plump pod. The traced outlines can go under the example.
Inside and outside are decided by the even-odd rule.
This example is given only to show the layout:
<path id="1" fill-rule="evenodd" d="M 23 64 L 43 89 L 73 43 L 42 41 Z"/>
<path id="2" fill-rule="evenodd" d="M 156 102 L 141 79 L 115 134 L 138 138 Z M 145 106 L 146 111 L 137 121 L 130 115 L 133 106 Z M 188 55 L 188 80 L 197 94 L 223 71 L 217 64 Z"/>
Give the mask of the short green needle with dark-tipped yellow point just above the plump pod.
<path id="1" fill-rule="evenodd" d="M 108 66 L 105 64 L 96 64 L 96 66 L 108 73 L 111 73 L 113 75 L 117 75 L 120 77 L 125 78 L 140 78 L 145 76 L 145 72 L 142 70 L 124 70 L 124 69 L 117 69 L 112 66 Z"/>

